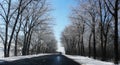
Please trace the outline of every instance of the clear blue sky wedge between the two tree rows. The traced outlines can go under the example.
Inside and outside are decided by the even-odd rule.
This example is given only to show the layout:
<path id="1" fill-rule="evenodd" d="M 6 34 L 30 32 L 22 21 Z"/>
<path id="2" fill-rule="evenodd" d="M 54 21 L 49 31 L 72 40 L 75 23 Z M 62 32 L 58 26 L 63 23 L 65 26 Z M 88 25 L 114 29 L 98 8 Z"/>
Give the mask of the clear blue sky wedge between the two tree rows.
<path id="1" fill-rule="evenodd" d="M 58 41 L 58 46 L 60 46 L 61 32 L 64 30 L 65 26 L 69 24 L 69 14 L 71 7 L 74 6 L 75 0 L 52 0 L 51 1 L 54 11 L 52 15 L 55 18 L 56 25 L 54 26 L 54 33 Z"/>

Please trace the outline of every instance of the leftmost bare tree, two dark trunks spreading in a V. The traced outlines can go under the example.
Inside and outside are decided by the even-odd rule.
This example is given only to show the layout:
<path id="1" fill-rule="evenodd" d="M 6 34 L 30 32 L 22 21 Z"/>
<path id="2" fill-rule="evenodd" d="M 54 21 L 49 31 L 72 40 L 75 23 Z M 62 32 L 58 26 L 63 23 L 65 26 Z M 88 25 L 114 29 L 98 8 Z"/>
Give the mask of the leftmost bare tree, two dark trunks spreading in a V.
<path id="1" fill-rule="evenodd" d="M 28 4 L 31 1 L 32 0 L 26 1 L 27 3 L 24 4 L 25 1 L 20 0 L 20 1 L 18 1 L 18 5 L 15 9 L 12 9 L 12 3 L 13 3 L 12 0 L 8 0 L 8 1 L 4 0 L 4 1 L 2 1 L 2 3 L 0 3 L 0 7 L 2 9 L 2 13 L 0 15 L 5 22 L 5 42 L 4 42 L 4 56 L 5 57 L 9 57 L 11 42 L 12 42 L 12 39 L 13 39 L 13 35 L 14 35 L 14 32 L 15 32 L 15 28 L 16 28 L 16 25 L 18 23 L 18 19 L 20 17 L 20 14 L 24 11 L 26 6 L 28 6 Z M 6 3 L 6 4 L 4 4 L 4 3 Z M 24 5 L 24 6 L 22 6 L 22 5 Z M 14 16 L 15 13 L 17 13 L 15 18 L 14 18 L 15 20 L 12 20 L 12 17 Z M 9 24 L 12 21 L 14 21 L 13 22 L 14 25 L 11 29 L 12 32 L 10 33 L 10 37 L 8 37 Z"/>

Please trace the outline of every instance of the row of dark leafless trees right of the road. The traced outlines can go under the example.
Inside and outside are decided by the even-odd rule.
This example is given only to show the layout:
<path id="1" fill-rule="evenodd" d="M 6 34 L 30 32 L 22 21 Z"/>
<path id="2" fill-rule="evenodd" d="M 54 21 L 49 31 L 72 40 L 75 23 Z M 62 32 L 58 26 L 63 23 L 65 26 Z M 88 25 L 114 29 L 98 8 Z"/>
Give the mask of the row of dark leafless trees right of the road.
<path id="1" fill-rule="evenodd" d="M 87 55 L 101 60 L 119 60 L 119 0 L 79 0 L 72 9 L 71 24 L 62 33 L 67 54 Z"/>

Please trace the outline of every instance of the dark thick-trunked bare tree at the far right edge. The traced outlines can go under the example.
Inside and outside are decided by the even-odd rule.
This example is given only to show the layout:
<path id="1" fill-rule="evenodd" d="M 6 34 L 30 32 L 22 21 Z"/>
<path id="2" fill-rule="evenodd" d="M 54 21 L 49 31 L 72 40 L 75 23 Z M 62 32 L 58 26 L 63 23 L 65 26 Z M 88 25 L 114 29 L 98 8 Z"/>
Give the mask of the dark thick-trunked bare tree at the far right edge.
<path id="1" fill-rule="evenodd" d="M 118 11 L 120 9 L 120 0 L 104 0 L 104 3 L 114 17 L 114 53 L 115 53 L 115 64 L 118 64 L 119 52 L 118 52 Z"/>

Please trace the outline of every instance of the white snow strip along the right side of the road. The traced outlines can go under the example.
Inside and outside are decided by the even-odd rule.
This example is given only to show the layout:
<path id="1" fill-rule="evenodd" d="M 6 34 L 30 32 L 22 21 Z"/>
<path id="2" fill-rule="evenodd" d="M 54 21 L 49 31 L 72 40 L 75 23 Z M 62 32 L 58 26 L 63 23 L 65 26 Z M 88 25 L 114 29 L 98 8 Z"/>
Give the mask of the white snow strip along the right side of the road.
<path id="1" fill-rule="evenodd" d="M 83 56 L 71 56 L 71 55 L 65 55 L 65 56 L 70 59 L 73 59 L 74 61 L 76 61 L 82 65 L 114 65 L 114 63 L 112 63 L 112 62 L 104 62 L 104 61 L 100 61 L 100 60 L 94 60 L 92 58 L 83 57 Z"/>

